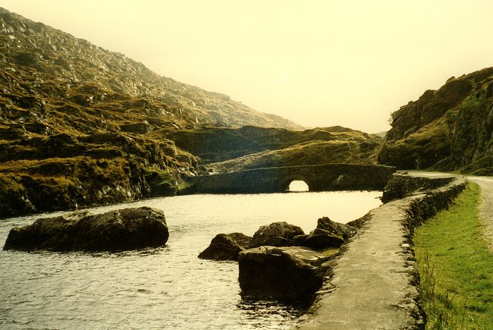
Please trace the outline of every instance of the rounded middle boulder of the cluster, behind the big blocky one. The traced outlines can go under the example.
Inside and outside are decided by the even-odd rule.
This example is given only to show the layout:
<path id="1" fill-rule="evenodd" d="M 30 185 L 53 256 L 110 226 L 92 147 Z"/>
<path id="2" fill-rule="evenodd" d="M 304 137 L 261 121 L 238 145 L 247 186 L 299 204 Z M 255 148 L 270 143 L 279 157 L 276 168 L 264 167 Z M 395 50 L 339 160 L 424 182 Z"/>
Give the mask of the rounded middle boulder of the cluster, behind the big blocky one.
<path id="1" fill-rule="evenodd" d="M 251 248 L 258 246 L 292 246 L 294 236 L 303 235 L 305 232 L 294 224 L 287 222 L 273 222 L 260 227 L 251 240 Z"/>

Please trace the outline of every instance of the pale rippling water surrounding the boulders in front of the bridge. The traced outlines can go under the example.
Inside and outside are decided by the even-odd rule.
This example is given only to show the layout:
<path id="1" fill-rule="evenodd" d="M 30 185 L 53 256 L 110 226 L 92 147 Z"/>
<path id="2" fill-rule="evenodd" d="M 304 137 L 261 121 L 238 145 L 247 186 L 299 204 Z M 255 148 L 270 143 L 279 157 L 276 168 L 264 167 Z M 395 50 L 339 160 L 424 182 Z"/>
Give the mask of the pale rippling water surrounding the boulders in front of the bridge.
<path id="1" fill-rule="evenodd" d="M 93 208 L 161 209 L 168 243 L 122 253 L 0 251 L 0 329 L 288 329 L 303 306 L 242 298 L 236 262 L 197 255 L 218 233 L 251 236 L 276 221 L 308 232 L 323 216 L 348 222 L 380 205 L 380 195 L 192 195 Z M 11 228 L 34 220 L 0 220 L 0 247 Z"/>

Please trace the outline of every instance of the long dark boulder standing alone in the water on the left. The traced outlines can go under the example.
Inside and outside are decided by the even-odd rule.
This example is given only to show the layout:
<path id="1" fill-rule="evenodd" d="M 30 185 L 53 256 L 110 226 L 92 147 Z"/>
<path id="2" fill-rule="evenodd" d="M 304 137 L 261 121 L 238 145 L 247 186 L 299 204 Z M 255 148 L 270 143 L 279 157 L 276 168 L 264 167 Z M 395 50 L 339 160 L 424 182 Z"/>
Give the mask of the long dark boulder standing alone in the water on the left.
<path id="1" fill-rule="evenodd" d="M 86 211 L 11 229 L 4 250 L 134 250 L 163 246 L 168 236 L 161 210 L 126 208 L 99 215 Z"/>

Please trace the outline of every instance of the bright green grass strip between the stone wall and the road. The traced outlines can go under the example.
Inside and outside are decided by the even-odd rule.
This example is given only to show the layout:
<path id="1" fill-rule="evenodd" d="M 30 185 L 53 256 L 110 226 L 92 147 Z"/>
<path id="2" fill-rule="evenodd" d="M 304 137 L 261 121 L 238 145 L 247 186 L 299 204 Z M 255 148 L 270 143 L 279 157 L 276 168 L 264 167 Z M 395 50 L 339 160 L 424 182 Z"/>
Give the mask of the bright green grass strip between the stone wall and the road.
<path id="1" fill-rule="evenodd" d="M 427 329 L 493 329 L 493 255 L 481 235 L 479 196 L 470 184 L 415 231 Z"/>

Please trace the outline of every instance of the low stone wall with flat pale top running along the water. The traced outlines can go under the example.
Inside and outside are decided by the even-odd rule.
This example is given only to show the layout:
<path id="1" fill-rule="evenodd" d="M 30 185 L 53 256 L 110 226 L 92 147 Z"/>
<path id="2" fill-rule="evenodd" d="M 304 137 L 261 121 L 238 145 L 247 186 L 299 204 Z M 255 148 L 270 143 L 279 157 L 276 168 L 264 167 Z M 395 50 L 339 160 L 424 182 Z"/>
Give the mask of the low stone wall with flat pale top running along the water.
<path id="1" fill-rule="evenodd" d="M 423 177 L 407 177 L 406 182 L 414 179 L 418 186 L 423 182 Z M 368 213 L 361 231 L 327 272 L 297 329 L 424 329 L 413 230 L 448 208 L 467 184 L 454 176 L 442 182 L 444 186 L 412 193 Z"/>

